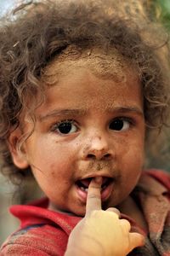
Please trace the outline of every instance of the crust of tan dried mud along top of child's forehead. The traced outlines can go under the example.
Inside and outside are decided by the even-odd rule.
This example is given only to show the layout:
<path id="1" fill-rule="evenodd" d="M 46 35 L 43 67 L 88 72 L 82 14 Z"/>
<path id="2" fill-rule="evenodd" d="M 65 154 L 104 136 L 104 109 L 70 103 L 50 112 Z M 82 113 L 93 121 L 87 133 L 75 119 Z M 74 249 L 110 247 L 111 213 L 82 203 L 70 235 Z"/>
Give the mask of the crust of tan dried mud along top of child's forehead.
<path id="1" fill-rule="evenodd" d="M 126 79 L 126 73 L 130 72 L 129 63 L 116 49 L 82 50 L 70 46 L 45 68 L 42 80 L 47 85 L 56 84 L 60 77 L 67 76 L 78 67 L 88 67 L 95 76 L 101 79 L 113 79 L 115 82 L 122 82 Z"/>

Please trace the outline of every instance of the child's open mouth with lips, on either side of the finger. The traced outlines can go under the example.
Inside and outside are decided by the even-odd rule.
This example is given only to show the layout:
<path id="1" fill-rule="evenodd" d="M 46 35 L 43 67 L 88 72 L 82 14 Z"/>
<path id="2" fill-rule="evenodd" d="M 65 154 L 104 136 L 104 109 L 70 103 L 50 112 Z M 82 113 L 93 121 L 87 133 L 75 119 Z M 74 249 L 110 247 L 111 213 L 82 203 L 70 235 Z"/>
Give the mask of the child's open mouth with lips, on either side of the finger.
<path id="1" fill-rule="evenodd" d="M 76 182 L 77 193 L 78 193 L 81 201 L 87 200 L 88 186 L 93 178 L 94 177 L 88 177 L 88 178 L 77 180 L 77 182 Z M 111 195 L 112 183 L 113 183 L 113 178 L 102 177 L 102 185 L 101 185 L 101 200 L 102 201 L 105 201 Z"/>

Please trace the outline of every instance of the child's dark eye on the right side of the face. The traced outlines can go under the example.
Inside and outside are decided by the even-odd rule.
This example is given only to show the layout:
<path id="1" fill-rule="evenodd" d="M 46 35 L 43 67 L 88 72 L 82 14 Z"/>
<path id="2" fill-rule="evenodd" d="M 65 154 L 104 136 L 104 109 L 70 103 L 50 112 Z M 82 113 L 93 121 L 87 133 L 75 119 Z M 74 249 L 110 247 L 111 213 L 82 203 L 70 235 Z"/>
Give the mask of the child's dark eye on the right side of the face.
<path id="1" fill-rule="evenodd" d="M 129 129 L 129 126 L 130 120 L 119 118 L 111 121 L 109 129 L 114 131 L 127 131 Z"/>

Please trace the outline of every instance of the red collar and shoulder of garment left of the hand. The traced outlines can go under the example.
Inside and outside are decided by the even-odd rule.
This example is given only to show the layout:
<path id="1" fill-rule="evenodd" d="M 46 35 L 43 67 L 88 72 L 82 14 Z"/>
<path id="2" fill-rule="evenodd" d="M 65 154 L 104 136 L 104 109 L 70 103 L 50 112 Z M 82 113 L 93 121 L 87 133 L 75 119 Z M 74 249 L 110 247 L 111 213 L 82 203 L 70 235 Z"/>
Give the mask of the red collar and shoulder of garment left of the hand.
<path id="1" fill-rule="evenodd" d="M 81 219 L 49 211 L 48 200 L 33 205 L 13 206 L 10 212 L 20 219 L 20 229 L 3 246 L 0 255 L 63 255 L 71 230 Z M 37 225 L 34 228 L 34 225 Z M 38 224 L 42 224 L 38 227 Z M 30 229 L 26 229 L 30 227 Z"/>

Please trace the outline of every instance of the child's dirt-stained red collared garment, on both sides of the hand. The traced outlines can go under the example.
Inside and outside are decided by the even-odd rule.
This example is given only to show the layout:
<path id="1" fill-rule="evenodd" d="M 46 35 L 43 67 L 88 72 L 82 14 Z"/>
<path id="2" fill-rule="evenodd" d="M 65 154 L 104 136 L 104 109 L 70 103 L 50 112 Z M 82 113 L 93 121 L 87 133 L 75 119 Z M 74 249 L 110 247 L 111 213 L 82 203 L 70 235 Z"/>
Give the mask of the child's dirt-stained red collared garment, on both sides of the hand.
<path id="1" fill-rule="evenodd" d="M 158 183 L 156 181 L 158 181 Z M 139 188 L 141 187 L 143 189 L 145 184 L 148 182 L 149 186 L 147 185 L 147 189 L 150 187 L 151 183 L 153 187 L 156 185 L 156 188 L 158 188 L 156 189 L 156 191 L 158 191 L 156 192 L 157 194 L 163 194 L 163 199 L 165 197 L 165 204 L 163 202 L 161 207 L 164 207 L 165 205 L 167 209 L 165 207 L 163 210 L 165 213 L 164 217 L 161 218 L 162 212 L 160 211 L 159 214 L 159 200 L 155 201 L 157 195 L 152 195 L 152 192 L 155 191 L 155 188 L 149 188 L 149 196 L 146 195 L 147 193 L 145 190 L 144 193 L 139 192 L 138 194 L 138 192 L 136 193 L 134 189 L 134 195 L 136 193 L 137 199 L 139 198 L 141 204 L 144 204 L 144 217 L 148 222 L 151 223 L 149 223 L 151 242 L 147 237 L 147 234 L 144 233 L 144 230 L 142 230 L 133 219 L 122 215 L 122 218 L 127 218 L 131 222 L 133 231 L 138 231 L 139 233 L 142 233 L 144 236 L 146 236 L 145 247 L 141 248 L 141 250 L 140 248 L 137 248 L 137 250 L 135 249 L 133 253 L 129 253 L 129 255 L 167 256 L 170 255 L 168 249 L 165 250 L 159 244 L 158 246 L 154 245 L 154 247 L 152 247 L 152 245 L 154 243 L 157 244 L 157 229 L 159 232 L 160 230 L 163 232 L 162 229 L 164 228 L 165 224 L 167 225 L 170 223 L 170 219 L 168 219 L 169 201 L 167 201 L 167 198 L 170 199 L 170 176 L 165 172 L 149 170 L 143 173 L 139 182 Z M 155 211 L 152 204 L 157 204 L 157 202 L 157 210 Z M 43 199 L 41 201 L 36 201 L 31 205 L 13 206 L 10 208 L 10 211 L 13 213 L 13 215 L 20 219 L 20 229 L 16 231 L 12 236 L 9 236 L 8 240 L 3 243 L 0 255 L 64 255 L 67 240 L 71 230 L 75 227 L 81 218 L 60 212 L 49 211 L 47 207 L 48 200 Z M 150 212 L 155 213 L 157 217 L 156 224 L 153 221 L 153 218 L 151 218 Z M 164 233 L 165 232 L 163 232 L 163 234 Z M 156 236 L 152 237 L 152 234 Z"/>

